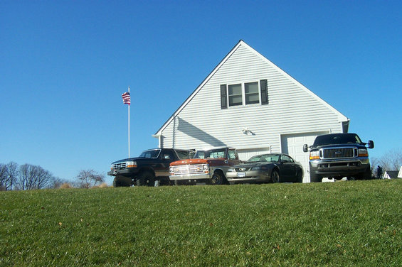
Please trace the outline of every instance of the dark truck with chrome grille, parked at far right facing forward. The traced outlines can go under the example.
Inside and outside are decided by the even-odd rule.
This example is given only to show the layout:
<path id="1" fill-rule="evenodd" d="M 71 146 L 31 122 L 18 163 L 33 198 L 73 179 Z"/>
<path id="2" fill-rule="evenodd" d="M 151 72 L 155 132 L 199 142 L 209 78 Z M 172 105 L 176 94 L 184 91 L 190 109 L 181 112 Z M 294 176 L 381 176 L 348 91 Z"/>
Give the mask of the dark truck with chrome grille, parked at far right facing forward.
<path id="1" fill-rule="evenodd" d="M 368 147 L 366 147 L 368 145 Z M 332 133 L 317 136 L 310 149 L 310 182 L 322 178 L 363 180 L 371 178 L 369 152 L 374 142 L 364 143 L 356 133 Z"/>

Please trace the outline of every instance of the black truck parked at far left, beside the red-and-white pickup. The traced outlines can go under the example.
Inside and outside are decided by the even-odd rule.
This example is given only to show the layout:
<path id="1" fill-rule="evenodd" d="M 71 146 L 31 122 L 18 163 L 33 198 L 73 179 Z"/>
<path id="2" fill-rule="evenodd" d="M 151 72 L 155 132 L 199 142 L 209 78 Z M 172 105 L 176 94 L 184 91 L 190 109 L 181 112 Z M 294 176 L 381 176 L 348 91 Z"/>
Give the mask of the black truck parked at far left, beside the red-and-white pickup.
<path id="1" fill-rule="evenodd" d="M 110 166 L 107 175 L 115 176 L 114 187 L 132 185 L 170 185 L 169 164 L 176 160 L 188 159 L 191 151 L 174 148 L 154 148 L 143 151 L 138 158 L 117 160 Z"/>

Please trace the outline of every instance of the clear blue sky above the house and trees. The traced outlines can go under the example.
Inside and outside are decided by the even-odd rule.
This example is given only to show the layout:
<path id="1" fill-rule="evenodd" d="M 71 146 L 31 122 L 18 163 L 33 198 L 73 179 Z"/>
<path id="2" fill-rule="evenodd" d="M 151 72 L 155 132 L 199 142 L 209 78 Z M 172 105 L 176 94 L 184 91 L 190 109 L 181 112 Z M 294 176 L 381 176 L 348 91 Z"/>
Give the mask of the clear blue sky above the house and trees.
<path id="1" fill-rule="evenodd" d="M 0 163 L 106 175 L 242 39 L 374 140 L 401 148 L 402 1 L 0 1 Z M 107 177 L 107 182 L 112 178 Z"/>

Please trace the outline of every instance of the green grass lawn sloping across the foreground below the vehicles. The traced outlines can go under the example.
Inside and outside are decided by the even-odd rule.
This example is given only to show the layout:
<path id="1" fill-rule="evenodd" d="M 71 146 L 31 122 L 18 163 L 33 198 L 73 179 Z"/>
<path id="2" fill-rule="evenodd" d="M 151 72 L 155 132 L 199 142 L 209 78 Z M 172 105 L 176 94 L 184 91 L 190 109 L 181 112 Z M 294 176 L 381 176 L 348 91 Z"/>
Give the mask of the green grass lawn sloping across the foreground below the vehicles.
<path id="1" fill-rule="evenodd" d="M 0 192 L 0 266 L 401 266 L 402 179 Z"/>

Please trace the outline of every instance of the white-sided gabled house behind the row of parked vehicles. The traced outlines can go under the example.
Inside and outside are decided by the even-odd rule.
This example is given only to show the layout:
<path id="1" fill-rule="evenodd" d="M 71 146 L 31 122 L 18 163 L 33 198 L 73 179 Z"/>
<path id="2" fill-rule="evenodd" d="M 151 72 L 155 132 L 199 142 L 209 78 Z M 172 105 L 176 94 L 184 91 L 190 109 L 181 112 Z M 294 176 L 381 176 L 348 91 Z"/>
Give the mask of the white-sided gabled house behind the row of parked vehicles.
<path id="1" fill-rule="evenodd" d="M 154 137 L 161 148 L 231 146 L 242 160 L 287 153 L 310 182 L 303 144 L 348 127 L 346 116 L 240 40 Z"/>

